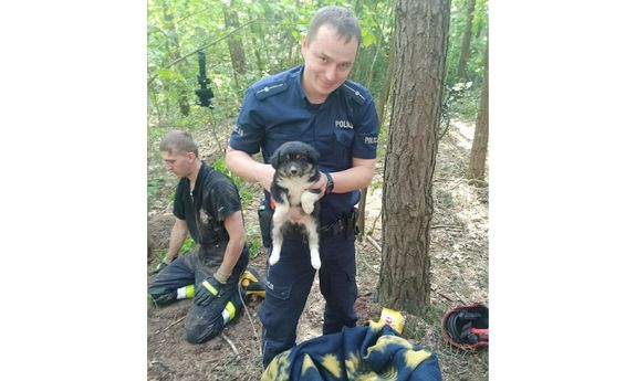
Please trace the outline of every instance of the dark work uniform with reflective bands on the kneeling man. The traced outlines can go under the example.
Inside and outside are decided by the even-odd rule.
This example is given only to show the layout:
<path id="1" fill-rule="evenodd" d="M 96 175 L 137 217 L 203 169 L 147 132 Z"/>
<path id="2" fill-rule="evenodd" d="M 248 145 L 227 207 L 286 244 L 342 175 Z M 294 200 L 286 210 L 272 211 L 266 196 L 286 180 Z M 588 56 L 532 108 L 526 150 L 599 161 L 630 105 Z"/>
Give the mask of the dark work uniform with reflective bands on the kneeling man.
<path id="1" fill-rule="evenodd" d="M 241 200 L 237 187 L 230 178 L 201 162 L 195 189 L 190 193 L 190 180 L 181 178 L 175 194 L 174 214 L 186 220 L 188 231 L 197 243 L 188 255 L 178 256 L 164 268 L 150 284 L 148 293 L 157 304 L 168 304 L 177 299 L 177 289 L 201 282 L 215 274 L 223 261 L 229 234 L 223 220 L 231 213 L 241 211 Z M 238 285 L 241 273 L 249 261 L 243 247 L 229 285 Z M 190 342 L 204 342 L 218 335 L 225 326 L 222 311 L 228 301 L 234 314 L 242 308 L 238 287 L 234 292 L 216 298 L 207 306 L 192 303 L 185 328 Z"/>

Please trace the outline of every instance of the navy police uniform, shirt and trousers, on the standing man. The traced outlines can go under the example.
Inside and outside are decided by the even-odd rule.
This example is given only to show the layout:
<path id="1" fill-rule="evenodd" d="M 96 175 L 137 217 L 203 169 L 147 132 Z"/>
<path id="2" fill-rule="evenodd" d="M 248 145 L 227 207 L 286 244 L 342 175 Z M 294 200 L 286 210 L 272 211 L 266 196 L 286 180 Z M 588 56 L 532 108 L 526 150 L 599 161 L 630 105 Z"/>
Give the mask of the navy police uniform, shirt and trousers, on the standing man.
<path id="1" fill-rule="evenodd" d="M 353 158 L 374 159 L 378 121 L 371 93 L 346 81 L 323 104 L 313 105 L 301 87 L 303 67 L 267 77 L 248 89 L 230 146 L 249 155 L 262 151 L 269 163 L 283 142 L 300 140 L 319 150 L 323 172 L 352 168 Z M 359 191 L 321 199 L 319 276 L 326 300 L 323 334 L 353 327 L 357 320 L 353 210 L 358 199 Z M 269 205 L 269 194 L 263 203 Z M 280 262 L 268 265 L 265 300 L 259 310 L 265 367 L 275 354 L 294 346 L 314 274 L 305 240 L 286 234 Z"/>

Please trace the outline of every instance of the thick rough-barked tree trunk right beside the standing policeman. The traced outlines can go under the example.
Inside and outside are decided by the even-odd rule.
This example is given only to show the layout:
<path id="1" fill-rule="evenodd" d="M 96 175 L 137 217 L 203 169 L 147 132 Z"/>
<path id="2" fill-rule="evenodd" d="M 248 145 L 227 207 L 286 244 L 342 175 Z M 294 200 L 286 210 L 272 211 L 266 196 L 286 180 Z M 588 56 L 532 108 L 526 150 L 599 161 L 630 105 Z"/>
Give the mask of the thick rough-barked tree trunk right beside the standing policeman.
<path id="1" fill-rule="evenodd" d="M 430 304 L 432 173 L 450 0 L 397 0 L 396 18 L 378 296 L 385 306 L 423 315 Z"/>

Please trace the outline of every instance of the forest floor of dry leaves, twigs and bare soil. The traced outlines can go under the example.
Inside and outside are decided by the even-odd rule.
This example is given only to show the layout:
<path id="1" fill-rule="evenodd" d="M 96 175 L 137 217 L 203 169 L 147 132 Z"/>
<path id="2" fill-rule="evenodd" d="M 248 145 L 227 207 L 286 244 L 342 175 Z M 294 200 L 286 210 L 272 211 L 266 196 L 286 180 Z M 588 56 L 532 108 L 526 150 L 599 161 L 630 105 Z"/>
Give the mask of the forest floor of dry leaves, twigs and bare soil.
<path id="1" fill-rule="evenodd" d="M 431 223 L 431 307 L 426 317 L 407 315 L 403 337 L 434 351 L 446 381 L 488 380 L 488 349 L 459 351 L 441 338 L 442 315 L 457 305 L 482 303 L 488 306 L 488 186 L 469 184 L 468 168 L 473 123 L 453 120 L 439 145 L 434 179 L 435 214 Z M 163 258 L 174 223 L 171 194 L 176 179 L 164 168 L 158 140 L 166 129 L 150 127 L 148 134 L 148 277 Z M 210 134 L 191 131 L 200 157 L 211 163 L 222 157 L 226 141 Z M 221 135 L 221 134 L 217 134 Z M 223 136 L 228 136 L 223 133 Z M 382 179 L 384 159 L 376 165 L 374 184 L 366 204 L 367 234 L 382 245 Z M 483 183 L 482 183 L 483 184 Z M 262 190 L 249 186 L 243 219 L 248 241 L 259 240 L 257 218 Z M 356 242 L 358 325 L 378 320 L 382 307 L 374 301 L 378 284 L 380 252 L 369 241 Z M 250 265 L 264 274 L 267 253 L 259 247 Z M 316 277 L 317 278 L 317 277 Z M 183 319 L 191 300 L 165 307 L 148 303 L 147 379 L 153 381 L 260 380 L 261 325 L 257 317 L 260 300 L 246 300 L 247 309 L 228 325 L 222 335 L 202 345 L 185 340 Z M 298 342 L 317 337 L 322 329 L 324 301 L 314 283 L 298 327 Z"/>

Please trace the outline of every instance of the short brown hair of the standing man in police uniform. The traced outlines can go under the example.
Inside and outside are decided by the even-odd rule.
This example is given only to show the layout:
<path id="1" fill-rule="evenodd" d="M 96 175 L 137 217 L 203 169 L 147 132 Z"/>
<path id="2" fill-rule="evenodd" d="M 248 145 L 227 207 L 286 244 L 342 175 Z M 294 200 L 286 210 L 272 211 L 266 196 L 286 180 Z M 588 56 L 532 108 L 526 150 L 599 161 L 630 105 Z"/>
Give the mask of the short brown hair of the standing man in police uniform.
<path id="1" fill-rule="evenodd" d="M 307 33 L 307 44 L 315 38 L 317 30 L 325 24 L 334 27 L 336 35 L 338 39 L 344 38 L 345 43 L 355 38 L 359 46 L 359 21 L 348 9 L 335 6 L 323 7 L 314 14 Z"/>

